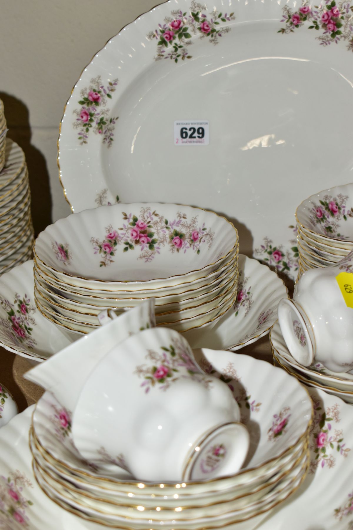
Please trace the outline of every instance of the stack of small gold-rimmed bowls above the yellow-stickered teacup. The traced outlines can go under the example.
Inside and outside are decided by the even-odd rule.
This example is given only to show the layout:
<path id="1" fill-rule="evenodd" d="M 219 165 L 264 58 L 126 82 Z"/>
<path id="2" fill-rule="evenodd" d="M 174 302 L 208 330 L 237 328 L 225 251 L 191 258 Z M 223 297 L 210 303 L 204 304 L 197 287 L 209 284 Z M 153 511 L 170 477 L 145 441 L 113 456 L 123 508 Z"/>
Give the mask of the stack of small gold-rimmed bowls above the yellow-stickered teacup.
<path id="1" fill-rule="evenodd" d="M 299 277 L 328 267 L 353 249 L 353 184 L 320 191 L 296 210 Z"/>

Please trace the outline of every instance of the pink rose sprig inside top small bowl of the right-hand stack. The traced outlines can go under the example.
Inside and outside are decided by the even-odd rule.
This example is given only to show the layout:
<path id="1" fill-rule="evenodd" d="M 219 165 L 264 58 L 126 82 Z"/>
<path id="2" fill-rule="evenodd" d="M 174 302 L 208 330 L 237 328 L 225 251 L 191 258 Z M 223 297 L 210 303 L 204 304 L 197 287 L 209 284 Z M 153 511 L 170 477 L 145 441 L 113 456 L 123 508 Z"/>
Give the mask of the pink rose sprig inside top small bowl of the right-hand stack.
<path id="1" fill-rule="evenodd" d="M 353 208 L 346 206 L 347 199 L 348 195 L 339 193 L 337 197 L 325 195 L 319 201 L 319 205 L 312 203 L 313 207 L 310 210 L 312 227 L 319 225 L 325 235 L 334 235 L 341 239 L 348 238 L 349 236 L 343 236 L 339 232 L 339 222 L 342 219 L 347 221 L 348 217 L 353 217 Z"/>

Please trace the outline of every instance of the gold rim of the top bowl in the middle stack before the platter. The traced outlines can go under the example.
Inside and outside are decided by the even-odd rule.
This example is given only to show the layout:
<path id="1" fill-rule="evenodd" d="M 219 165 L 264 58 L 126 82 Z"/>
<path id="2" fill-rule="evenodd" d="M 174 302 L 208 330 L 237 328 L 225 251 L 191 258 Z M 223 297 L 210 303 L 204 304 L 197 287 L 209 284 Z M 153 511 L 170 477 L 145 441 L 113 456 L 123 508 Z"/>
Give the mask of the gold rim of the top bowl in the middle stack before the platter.
<path id="1" fill-rule="evenodd" d="M 238 234 L 237 228 L 226 217 L 224 217 L 222 215 L 218 215 L 213 210 L 206 210 L 206 208 L 201 208 L 201 207 L 198 207 L 198 206 L 189 206 L 189 205 L 185 205 L 185 204 L 174 204 L 174 203 L 171 203 L 171 202 L 155 202 L 155 203 L 153 203 L 152 201 L 149 201 L 149 202 L 129 202 L 129 203 L 120 202 L 119 204 L 112 205 L 112 206 L 102 206 L 102 208 L 114 208 L 114 207 L 123 206 L 123 205 L 131 206 L 131 205 L 148 205 L 148 204 L 158 204 L 158 205 L 161 205 L 161 206 L 182 206 L 184 208 L 192 208 L 193 210 L 201 210 L 201 211 L 205 211 L 208 214 L 213 214 L 216 217 L 218 217 L 219 219 L 223 219 L 226 223 L 231 225 L 233 231 L 236 233 L 236 242 L 234 243 L 234 245 L 232 246 L 232 248 L 228 252 L 226 252 L 224 255 L 222 255 L 220 258 L 218 258 L 216 261 L 213 261 L 211 263 L 207 263 L 204 267 L 201 267 L 200 269 L 193 269 L 193 270 L 185 272 L 184 274 L 168 276 L 166 278 L 151 278 L 150 280 L 126 280 L 126 281 L 117 280 L 117 281 L 119 281 L 119 284 L 126 285 L 126 284 L 130 284 L 132 282 L 135 282 L 135 281 L 139 281 L 141 284 L 146 284 L 146 283 L 152 282 L 152 281 L 166 281 L 166 280 L 170 280 L 171 278 L 183 278 L 183 277 L 185 277 L 185 276 L 187 276 L 189 274 L 192 274 L 194 272 L 201 272 L 203 269 L 206 269 L 208 267 L 213 267 L 214 265 L 216 265 L 218 263 L 222 263 L 222 261 L 225 261 L 226 259 L 230 259 L 232 253 L 237 254 L 237 255 L 239 254 L 239 234 Z M 89 210 L 94 211 L 96 209 L 97 208 L 89 208 L 87 210 L 82 210 L 82 212 L 78 212 L 77 216 L 80 213 L 83 213 L 84 211 L 89 211 Z M 114 213 L 114 212 L 112 212 L 112 213 Z M 66 217 L 65 219 L 68 219 L 69 217 L 70 216 Z M 60 220 L 62 220 L 62 219 L 58 219 L 58 221 L 56 221 L 52 225 L 48 225 L 48 226 L 54 226 Z M 47 228 L 48 228 L 48 226 L 47 226 Z M 44 228 L 43 232 L 45 232 L 47 228 Z M 40 234 L 39 234 L 39 236 L 40 236 Z M 34 252 L 35 252 L 35 250 L 34 250 Z M 36 255 L 37 259 L 41 263 L 43 263 L 44 266 L 46 266 L 47 268 L 59 273 L 60 275 L 63 275 L 64 277 L 67 276 L 69 278 L 77 278 L 77 279 L 85 280 L 85 281 L 97 281 L 99 283 L 102 283 L 103 285 L 104 284 L 109 284 L 109 283 L 112 283 L 113 281 L 115 281 L 115 280 L 98 280 L 98 279 L 93 280 L 92 278 L 85 278 L 83 276 L 75 276 L 75 275 L 70 274 L 69 272 L 60 271 L 60 270 L 55 269 L 54 267 L 51 267 L 45 261 L 43 261 L 41 258 L 39 258 L 37 252 L 35 252 L 35 255 Z M 206 275 L 206 276 L 209 276 L 209 275 Z M 181 282 L 181 283 L 184 283 L 184 282 Z M 180 284 L 175 284 L 175 285 L 180 285 Z"/>

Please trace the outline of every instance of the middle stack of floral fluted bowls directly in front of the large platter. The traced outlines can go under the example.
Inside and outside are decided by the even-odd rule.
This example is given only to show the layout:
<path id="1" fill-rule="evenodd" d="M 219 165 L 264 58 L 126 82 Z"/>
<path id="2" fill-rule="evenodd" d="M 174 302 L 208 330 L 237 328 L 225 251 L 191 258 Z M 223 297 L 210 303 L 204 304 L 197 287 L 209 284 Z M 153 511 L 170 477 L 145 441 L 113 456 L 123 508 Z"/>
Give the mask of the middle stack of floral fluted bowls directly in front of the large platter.
<path id="1" fill-rule="evenodd" d="M 34 247 L 35 302 L 62 328 L 89 333 L 106 308 L 156 299 L 158 325 L 214 324 L 237 296 L 238 233 L 211 211 L 116 204 L 48 226 Z"/>

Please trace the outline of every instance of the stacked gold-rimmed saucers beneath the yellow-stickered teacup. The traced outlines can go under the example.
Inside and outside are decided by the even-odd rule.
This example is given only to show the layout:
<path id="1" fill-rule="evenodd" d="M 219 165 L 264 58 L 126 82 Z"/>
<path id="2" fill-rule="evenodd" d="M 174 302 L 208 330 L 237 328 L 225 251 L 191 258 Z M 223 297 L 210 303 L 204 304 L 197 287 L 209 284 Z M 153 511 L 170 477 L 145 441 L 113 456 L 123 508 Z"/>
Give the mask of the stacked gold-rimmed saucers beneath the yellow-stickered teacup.
<path id="1" fill-rule="evenodd" d="M 353 370 L 351 372 L 331 372 L 322 363 L 314 361 L 311 366 L 302 366 L 289 352 L 280 331 L 278 321 L 270 331 L 270 343 L 275 362 L 302 383 L 324 390 L 353 403 Z"/>

